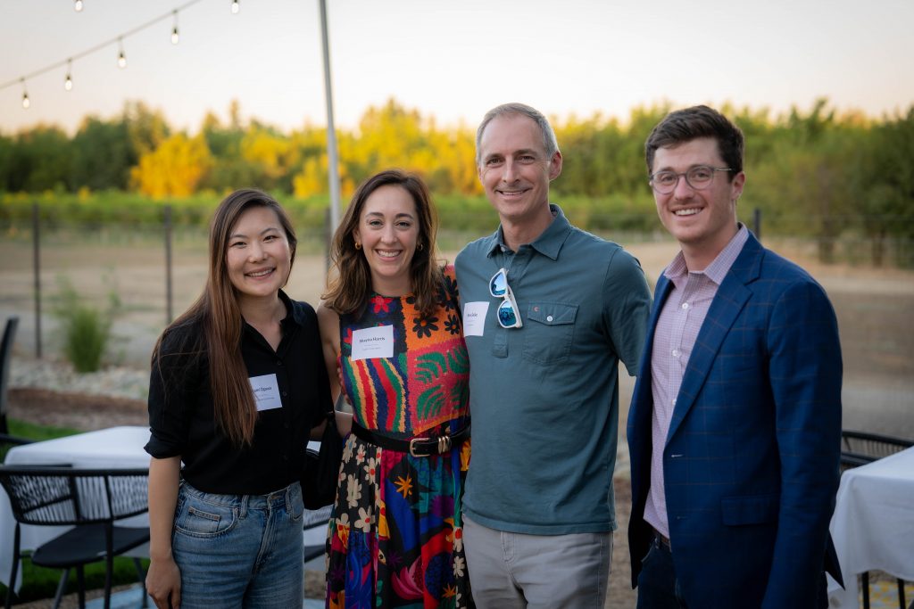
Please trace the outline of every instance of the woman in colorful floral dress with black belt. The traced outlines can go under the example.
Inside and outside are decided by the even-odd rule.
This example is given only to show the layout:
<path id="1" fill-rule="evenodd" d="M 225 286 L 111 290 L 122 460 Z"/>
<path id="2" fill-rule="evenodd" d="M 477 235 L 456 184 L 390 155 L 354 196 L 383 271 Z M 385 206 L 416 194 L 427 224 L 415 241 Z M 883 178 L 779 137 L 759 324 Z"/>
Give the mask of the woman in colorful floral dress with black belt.
<path id="1" fill-rule="evenodd" d="M 334 394 L 354 413 L 328 530 L 328 607 L 472 602 L 460 507 L 469 362 L 436 230 L 426 186 L 395 170 L 359 186 L 334 236 L 317 313 Z"/>

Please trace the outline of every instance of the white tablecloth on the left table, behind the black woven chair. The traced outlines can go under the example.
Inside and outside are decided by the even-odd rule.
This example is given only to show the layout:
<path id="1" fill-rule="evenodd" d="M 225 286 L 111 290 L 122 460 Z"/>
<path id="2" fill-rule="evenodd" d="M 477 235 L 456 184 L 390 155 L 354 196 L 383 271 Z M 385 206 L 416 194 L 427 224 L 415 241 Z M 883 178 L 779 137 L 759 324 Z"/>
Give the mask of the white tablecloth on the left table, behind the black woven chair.
<path id="1" fill-rule="evenodd" d="M 143 446 L 149 441 L 149 428 L 138 426 L 110 427 L 76 436 L 15 446 L 6 454 L 5 465 L 63 465 L 129 469 L 149 467 L 149 455 Z M 148 524 L 148 515 L 124 520 L 128 526 Z M 16 520 L 9 506 L 6 491 L 0 488 L 0 582 L 7 583 L 13 566 L 13 535 Z M 20 545 L 23 549 L 36 548 L 44 541 L 58 535 L 65 527 L 22 527 Z M 138 555 L 147 556 L 147 546 L 137 549 Z M 133 553 L 133 552 L 132 552 Z M 21 582 L 22 570 L 16 577 Z M 16 582 L 16 588 L 19 583 Z"/>

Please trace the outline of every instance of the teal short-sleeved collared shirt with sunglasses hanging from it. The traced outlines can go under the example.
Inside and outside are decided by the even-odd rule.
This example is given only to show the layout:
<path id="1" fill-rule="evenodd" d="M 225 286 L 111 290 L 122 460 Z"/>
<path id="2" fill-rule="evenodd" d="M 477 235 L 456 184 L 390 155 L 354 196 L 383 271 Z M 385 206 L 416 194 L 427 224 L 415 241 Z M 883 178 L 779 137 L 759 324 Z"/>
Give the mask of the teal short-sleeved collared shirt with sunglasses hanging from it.
<path id="1" fill-rule="evenodd" d="M 615 530 L 618 364 L 638 372 L 651 295 L 634 257 L 550 208 L 533 243 L 513 252 L 499 227 L 456 260 L 473 416 L 463 510 L 511 532 Z M 495 317 L 502 299 L 489 280 L 499 268 L 522 328 Z M 468 310 L 484 318 L 475 331 Z"/>

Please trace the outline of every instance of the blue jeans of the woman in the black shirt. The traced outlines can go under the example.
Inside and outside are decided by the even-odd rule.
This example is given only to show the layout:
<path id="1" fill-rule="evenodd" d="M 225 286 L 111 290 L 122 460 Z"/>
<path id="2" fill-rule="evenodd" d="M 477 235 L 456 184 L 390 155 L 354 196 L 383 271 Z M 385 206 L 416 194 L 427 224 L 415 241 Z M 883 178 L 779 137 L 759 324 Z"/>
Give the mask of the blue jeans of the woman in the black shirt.
<path id="1" fill-rule="evenodd" d="M 289 609 L 303 590 L 302 488 L 213 495 L 181 484 L 172 553 L 181 607 Z"/>

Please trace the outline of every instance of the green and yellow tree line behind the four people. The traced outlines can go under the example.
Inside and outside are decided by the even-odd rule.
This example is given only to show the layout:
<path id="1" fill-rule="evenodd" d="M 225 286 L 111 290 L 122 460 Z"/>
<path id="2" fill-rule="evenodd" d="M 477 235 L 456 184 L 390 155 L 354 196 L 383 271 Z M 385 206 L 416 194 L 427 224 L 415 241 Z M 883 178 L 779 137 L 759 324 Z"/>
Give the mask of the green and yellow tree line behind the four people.
<path id="1" fill-rule="evenodd" d="M 553 118 L 565 158 L 554 199 L 575 206 L 576 221 L 596 228 L 618 226 L 620 215 L 650 214 L 643 142 L 669 110 L 639 107 L 624 120 L 599 112 Z M 878 119 L 840 112 L 824 99 L 780 115 L 721 110 L 746 133 L 748 183 L 739 205 L 763 210 L 766 226 L 818 237 L 825 259 L 848 231 L 871 240 L 877 261 L 887 241 L 914 237 L 914 105 Z M 356 128 L 338 130 L 343 194 L 397 166 L 423 175 L 436 196 L 476 201 L 482 188 L 474 129 L 440 127 L 396 100 L 370 107 Z M 323 199 L 325 151 L 323 127 L 283 132 L 242 121 L 235 102 L 228 121 L 210 113 L 196 133 L 175 131 L 160 111 L 129 102 L 113 118 L 85 118 L 72 136 L 48 125 L 0 133 L 0 193 L 120 191 L 168 200 L 256 186 Z"/>

